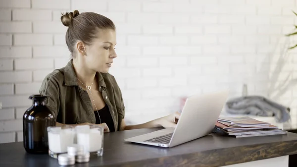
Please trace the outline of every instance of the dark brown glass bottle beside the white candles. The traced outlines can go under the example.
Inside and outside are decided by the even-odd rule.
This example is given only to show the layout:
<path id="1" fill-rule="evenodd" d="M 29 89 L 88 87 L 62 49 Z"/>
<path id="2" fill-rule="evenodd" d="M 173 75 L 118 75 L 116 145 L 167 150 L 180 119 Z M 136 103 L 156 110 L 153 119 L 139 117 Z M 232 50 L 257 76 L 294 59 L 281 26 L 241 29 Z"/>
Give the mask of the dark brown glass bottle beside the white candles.
<path id="1" fill-rule="evenodd" d="M 32 95 L 33 105 L 23 116 L 23 143 L 27 153 L 48 154 L 48 126 L 55 126 L 56 119 L 45 106 L 47 96 Z"/>

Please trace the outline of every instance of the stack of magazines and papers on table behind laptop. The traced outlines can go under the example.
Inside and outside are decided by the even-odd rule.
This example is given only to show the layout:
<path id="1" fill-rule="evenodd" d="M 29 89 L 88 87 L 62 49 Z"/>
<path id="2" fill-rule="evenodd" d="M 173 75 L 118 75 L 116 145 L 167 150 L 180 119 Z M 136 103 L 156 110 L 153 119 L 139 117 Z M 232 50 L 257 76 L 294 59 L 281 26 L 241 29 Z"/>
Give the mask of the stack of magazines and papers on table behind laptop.
<path id="1" fill-rule="evenodd" d="M 252 137 L 287 134 L 277 126 L 268 122 L 262 122 L 248 116 L 243 117 L 222 117 L 220 116 L 215 124 L 214 132 L 234 137 Z"/>

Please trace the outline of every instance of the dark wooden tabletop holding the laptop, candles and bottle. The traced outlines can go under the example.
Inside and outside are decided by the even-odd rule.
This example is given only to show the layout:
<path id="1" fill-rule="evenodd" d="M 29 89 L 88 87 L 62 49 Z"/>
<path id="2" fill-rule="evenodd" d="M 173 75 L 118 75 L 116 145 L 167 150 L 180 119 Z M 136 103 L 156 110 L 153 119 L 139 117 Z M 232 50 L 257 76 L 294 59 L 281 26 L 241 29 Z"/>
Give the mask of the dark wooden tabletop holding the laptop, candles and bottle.
<path id="1" fill-rule="evenodd" d="M 220 167 L 297 154 L 297 134 L 233 138 L 210 134 L 173 147 L 125 143 L 125 138 L 160 128 L 104 134 L 103 157 L 75 167 Z M 31 155 L 22 142 L 0 144 L 0 167 L 58 167 L 49 155 Z M 191 167 L 192 167 L 191 166 Z"/>

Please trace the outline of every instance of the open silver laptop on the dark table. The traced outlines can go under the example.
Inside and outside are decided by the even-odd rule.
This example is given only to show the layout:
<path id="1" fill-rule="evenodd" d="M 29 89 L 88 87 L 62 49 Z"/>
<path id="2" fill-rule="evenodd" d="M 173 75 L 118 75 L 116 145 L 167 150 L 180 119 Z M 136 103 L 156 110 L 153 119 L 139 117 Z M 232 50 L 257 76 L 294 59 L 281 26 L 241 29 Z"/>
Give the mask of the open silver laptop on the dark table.
<path id="1" fill-rule="evenodd" d="M 126 142 L 174 147 L 210 134 L 227 101 L 228 91 L 188 97 L 175 128 L 125 139 Z"/>

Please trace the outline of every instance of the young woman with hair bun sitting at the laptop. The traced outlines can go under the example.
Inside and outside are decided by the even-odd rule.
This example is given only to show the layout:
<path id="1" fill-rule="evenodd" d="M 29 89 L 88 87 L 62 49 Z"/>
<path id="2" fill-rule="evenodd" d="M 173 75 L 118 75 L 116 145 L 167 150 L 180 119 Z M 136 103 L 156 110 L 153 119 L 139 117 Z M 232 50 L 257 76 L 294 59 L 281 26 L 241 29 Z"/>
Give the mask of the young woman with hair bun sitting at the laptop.
<path id="1" fill-rule="evenodd" d="M 176 126 L 178 112 L 143 124 L 125 124 L 121 90 L 108 73 L 117 57 L 116 28 L 110 19 L 75 10 L 63 14 L 61 22 L 68 27 L 66 44 L 72 58 L 65 67 L 49 73 L 39 91 L 48 96 L 46 105 L 57 124 L 101 124 L 105 132 Z"/>

